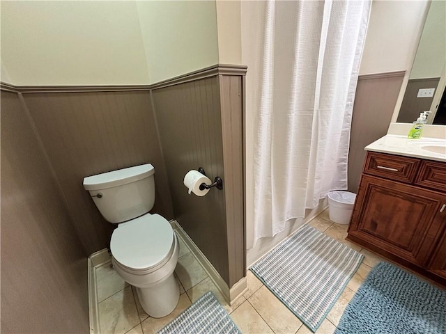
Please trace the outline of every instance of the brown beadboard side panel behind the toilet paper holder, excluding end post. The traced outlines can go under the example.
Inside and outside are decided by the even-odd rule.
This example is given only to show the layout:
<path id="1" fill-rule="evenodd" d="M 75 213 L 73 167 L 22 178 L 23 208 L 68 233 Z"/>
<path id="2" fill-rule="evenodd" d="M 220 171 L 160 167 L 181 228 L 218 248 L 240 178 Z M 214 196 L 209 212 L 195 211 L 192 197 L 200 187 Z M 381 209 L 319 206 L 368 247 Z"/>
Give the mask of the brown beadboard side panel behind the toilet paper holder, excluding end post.
<path id="1" fill-rule="evenodd" d="M 229 285 L 226 189 L 220 87 L 218 77 L 198 79 L 153 90 L 176 221 Z M 206 175 L 223 179 L 223 190 L 206 196 L 188 195 L 183 178 L 203 167 Z M 230 286 L 230 285 L 229 285 Z"/>

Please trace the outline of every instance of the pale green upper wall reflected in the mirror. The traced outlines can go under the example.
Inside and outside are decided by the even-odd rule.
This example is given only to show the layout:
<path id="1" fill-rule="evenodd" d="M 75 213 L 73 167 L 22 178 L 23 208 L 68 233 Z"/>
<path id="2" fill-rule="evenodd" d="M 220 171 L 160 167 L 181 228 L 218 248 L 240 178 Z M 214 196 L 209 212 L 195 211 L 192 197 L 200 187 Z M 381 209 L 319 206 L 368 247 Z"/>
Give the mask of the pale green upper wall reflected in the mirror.
<path id="1" fill-rule="evenodd" d="M 439 78 L 446 60 L 446 1 L 432 1 L 410 79 Z"/>

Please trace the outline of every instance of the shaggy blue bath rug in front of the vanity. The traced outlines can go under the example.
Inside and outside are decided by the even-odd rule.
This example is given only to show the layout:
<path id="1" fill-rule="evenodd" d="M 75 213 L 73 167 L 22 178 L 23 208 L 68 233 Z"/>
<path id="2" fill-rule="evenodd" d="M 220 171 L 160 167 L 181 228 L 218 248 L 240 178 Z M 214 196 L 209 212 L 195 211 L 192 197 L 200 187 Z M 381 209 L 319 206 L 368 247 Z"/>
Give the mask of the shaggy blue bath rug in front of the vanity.
<path id="1" fill-rule="evenodd" d="M 372 269 L 336 334 L 446 333 L 446 292 L 387 262 Z"/>

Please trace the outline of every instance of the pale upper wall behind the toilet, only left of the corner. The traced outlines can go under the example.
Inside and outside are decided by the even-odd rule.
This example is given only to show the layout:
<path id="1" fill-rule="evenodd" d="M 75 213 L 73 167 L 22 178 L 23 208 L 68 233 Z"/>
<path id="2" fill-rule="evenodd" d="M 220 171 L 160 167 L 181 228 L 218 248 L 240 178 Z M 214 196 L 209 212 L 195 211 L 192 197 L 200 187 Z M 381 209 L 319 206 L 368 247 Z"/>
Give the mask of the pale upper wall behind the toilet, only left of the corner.
<path id="1" fill-rule="evenodd" d="M 1 63 L 15 85 L 149 81 L 134 1 L 1 1 Z"/>

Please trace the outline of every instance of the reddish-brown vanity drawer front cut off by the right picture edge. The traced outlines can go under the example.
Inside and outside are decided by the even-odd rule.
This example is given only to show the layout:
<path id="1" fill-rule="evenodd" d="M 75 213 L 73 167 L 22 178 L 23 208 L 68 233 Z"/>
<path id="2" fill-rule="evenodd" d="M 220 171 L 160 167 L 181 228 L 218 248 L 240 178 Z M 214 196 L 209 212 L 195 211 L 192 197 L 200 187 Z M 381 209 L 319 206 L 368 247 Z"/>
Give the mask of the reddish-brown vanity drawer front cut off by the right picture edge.
<path id="1" fill-rule="evenodd" d="M 423 160 L 415 184 L 446 193 L 446 164 Z"/>

